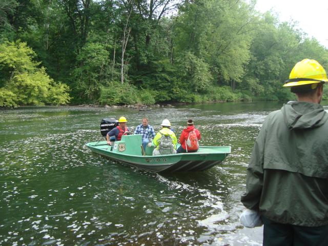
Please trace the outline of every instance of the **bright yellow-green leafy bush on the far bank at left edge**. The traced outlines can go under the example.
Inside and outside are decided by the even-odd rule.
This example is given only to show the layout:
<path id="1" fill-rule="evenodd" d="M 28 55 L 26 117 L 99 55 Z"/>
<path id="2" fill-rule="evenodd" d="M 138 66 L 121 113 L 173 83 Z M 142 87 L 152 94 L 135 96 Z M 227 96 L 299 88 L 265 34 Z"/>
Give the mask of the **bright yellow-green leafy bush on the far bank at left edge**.
<path id="1" fill-rule="evenodd" d="M 37 68 L 39 63 L 32 60 L 35 54 L 25 43 L 0 44 L 0 51 L 0 105 L 16 107 L 69 102 L 69 87 L 55 83 L 44 67 Z"/>

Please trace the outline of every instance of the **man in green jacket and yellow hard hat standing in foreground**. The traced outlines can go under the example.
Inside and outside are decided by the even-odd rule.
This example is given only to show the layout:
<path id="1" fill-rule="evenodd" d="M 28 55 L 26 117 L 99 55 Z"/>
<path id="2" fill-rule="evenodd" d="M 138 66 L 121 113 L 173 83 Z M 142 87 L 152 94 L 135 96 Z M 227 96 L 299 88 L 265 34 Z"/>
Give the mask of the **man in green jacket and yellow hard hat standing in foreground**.
<path id="1" fill-rule="evenodd" d="M 284 87 L 297 101 L 265 118 L 247 169 L 243 205 L 260 213 L 263 245 L 328 245 L 328 114 L 323 67 L 304 59 Z"/>

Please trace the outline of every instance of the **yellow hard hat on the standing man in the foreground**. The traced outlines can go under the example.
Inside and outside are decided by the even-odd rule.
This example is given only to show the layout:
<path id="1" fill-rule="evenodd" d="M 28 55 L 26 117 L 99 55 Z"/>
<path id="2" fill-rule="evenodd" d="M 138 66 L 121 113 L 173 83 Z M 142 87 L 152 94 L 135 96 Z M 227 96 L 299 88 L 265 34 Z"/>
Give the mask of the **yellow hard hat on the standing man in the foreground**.
<path id="1" fill-rule="evenodd" d="M 292 69 L 284 87 L 301 86 L 327 82 L 327 74 L 316 60 L 303 59 Z"/>

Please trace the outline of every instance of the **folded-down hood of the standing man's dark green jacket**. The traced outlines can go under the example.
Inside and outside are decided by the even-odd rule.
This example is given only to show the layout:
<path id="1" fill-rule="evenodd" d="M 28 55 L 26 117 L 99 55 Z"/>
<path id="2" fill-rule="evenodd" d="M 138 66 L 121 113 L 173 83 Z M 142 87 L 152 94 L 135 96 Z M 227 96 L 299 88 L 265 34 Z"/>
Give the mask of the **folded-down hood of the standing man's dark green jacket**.
<path id="1" fill-rule="evenodd" d="M 321 105 L 305 101 L 284 104 L 281 111 L 290 130 L 317 128 L 328 119 L 328 114 Z"/>

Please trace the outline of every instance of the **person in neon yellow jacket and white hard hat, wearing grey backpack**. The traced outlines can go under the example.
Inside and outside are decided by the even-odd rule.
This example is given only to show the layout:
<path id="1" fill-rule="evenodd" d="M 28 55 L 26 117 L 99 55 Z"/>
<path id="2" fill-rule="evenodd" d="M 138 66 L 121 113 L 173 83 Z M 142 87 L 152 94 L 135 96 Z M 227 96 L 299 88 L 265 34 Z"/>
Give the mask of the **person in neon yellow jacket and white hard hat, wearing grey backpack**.
<path id="1" fill-rule="evenodd" d="M 168 119 L 164 119 L 160 125 L 162 126 L 162 129 L 153 139 L 153 144 L 155 145 L 153 155 L 175 154 L 177 139 L 174 132 L 170 130 L 170 121 Z"/>

